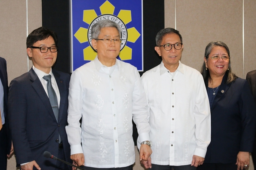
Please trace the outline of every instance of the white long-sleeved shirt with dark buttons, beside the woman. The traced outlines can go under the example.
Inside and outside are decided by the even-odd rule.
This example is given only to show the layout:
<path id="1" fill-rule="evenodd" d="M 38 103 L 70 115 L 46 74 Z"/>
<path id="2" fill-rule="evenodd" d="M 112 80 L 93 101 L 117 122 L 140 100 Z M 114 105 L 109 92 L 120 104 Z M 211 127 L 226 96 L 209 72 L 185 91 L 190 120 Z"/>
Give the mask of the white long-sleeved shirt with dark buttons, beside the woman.
<path id="1" fill-rule="evenodd" d="M 150 113 L 151 163 L 181 166 L 191 164 L 193 155 L 205 157 L 211 117 L 202 75 L 181 62 L 170 73 L 161 62 L 143 74 L 142 82 Z"/>

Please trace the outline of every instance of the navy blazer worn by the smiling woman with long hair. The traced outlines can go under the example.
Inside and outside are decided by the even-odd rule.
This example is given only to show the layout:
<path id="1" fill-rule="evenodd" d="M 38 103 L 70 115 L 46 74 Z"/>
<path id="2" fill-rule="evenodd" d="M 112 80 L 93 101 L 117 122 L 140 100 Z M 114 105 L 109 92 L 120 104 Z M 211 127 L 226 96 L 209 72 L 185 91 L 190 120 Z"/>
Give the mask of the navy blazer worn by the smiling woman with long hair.
<path id="1" fill-rule="evenodd" d="M 212 103 L 211 143 L 204 163 L 236 163 L 239 151 L 253 150 L 256 106 L 249 84 L 241 78 L 229 84 L 226 80 L 227 75 Z"/>

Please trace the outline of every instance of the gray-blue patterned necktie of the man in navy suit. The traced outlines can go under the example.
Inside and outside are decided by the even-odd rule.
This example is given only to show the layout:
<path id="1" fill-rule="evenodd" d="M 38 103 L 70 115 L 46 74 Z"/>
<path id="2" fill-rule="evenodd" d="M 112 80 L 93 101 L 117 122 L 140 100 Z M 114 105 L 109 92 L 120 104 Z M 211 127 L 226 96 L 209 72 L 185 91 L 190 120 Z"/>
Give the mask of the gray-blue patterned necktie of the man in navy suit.
<path id="1" fill-rule="evenodd" d="M 52 87 L 52 81 L 51 81 L 51 75 L 47 75 L 44 76 L 44 80 L 47 81 L 47 91 L 48 91 L 48 96 L 49 96 L 49 100 L 50 100 L 50 104 L 52 106 L 52 111 L 54 113 L 55 119 L 57 120 L 58 123 L 58 119 L 59 119 L 59 106 L 58 106 L 58 100 L 57 100 L 57 96 L 56 93 Z M 59 134 L 59 143 L 61 142 L 61 137 Z"/>

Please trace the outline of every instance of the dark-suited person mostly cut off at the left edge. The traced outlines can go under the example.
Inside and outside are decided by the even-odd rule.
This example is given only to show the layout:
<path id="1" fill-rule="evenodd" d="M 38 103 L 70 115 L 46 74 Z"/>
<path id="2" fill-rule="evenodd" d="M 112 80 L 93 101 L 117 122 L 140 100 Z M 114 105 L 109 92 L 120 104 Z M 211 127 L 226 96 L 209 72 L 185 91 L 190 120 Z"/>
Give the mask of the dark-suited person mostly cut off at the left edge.
<path id="1" fill-rule="evenodd" d="M 13 152 L 7 117 L 8 80 L 6 61 L 0 57 L 0 170 L 6 170 L 7 155 Z"/>

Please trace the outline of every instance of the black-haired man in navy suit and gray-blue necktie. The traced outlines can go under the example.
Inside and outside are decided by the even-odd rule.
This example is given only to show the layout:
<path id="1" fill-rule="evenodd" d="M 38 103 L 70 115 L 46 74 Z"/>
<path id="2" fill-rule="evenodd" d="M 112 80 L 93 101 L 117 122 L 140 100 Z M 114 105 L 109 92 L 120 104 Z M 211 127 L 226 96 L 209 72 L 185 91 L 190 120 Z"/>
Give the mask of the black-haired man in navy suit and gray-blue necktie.
<path id="1" fill-rule="evenodd" d="M 72 163 L 67 125 L 70 76 L 52 70 L 57 58 L 57 35 L 45 27 L 27 37 L 29 72 L 10 83 L 8 111 L 16 163 L 22 170 L 66 170 L 64 163 L 47 159 L 44 151 Z"/>

